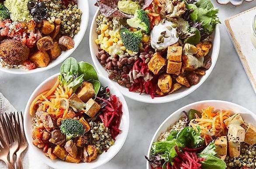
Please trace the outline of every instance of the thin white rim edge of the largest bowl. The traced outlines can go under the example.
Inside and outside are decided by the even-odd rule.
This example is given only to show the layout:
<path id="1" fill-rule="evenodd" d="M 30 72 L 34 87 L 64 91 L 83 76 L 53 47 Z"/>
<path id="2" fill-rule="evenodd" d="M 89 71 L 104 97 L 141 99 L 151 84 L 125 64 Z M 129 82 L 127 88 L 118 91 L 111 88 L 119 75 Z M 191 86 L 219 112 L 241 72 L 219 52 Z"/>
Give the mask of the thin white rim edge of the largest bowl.
<path id="1" fill-rule="evenodd" d="M 93 47 L 93 43 L 94 43 L 94 39 L 93 39 L 93 34 L 96 34 L 96 32 L 93 30 L 93 26 L 94 24 L 96 23 L 96 17 L 97 15 L 99 14 L 100 12 L 100 9 L 98 8 L 93 16 L 93 20 L 91 22 L 91 26 L 90 26 L 90 34 L 89 34 L 89 45 L 90 45 L 90 54 L 91 54 L 91 57 L 92 57 L 92 60 L 93 60 L 93 64 L 95 66 L 95 68 L 97 69 L 97 72 L 100 72 L 100 69 L 102 68 L 102 66 L 99 64 L 99 61 L 97 60 L 97 58 L 95 57 L 95 53 L 93 53 L 94 51 L 94 47 Z M 191 94 L 193 91 L 197 90 L 198 88 L 200 88 L 200 86 L 204 83 L 204 81 L 206 81 L 208 79 L 208 77 L 210 76 L 211 72 L 213 71 L 215 65 L 216 65 L 216 62 L 218 60 L 218 55 L 219 55 L 219 51 L 220 51 L 220 29 L 219 29 L 219 25 L 217 24 L 216 25 L 216 28 L 215 28 L 215 35 L 214 35 L 214 41 L 215 42 L 215 45 L 216 45 L 216 54 L 214 54 L 216 57 L 214 60 L 212 60 L 212 64 L 211 64 L 211 67 L 206 71 L 206 74 L 203 76 L 204 79 L 200 79 L 199 83 L 195 85 L 194 88 L 186 88 L 185 91 L 182 91 L 182 94 L 176 98 L 166 98 L 168 97 L 168 95 L 164 96 L 164 97 L 156 97 L 154 99 L 150 98 L 149 100 L 144 100 L 143 98 L 141 97 L 134 97 L 134 95 L 131 95 L 130 93 L 134 93 L 134 92 L 131 92 L 131 91 L 128 91 L 127 90 L 121 90 L 122 88 L 124 88 L 123 86 L 120 86 L 116 81 L 113 81 L 114 85 L 116 85 L 121 93 L 125 96 L 125 97 L 128 97 L 132 100 L 135 100 L 135 101 L 139 101 L 139 102 L 143 102 L 143 103 L 151 103 L 151 104 L 158 104 L 158 103 L 167 103 L 167 102 L 171 102 L 171 101 L 176 101 L 180 98 L 183 98 L 183 97 L 186 97 L 187 95 Z M 211 54 L 212 56 L 213 54 Z M 106 70 L 104 70 L 106 71 Z M 108 79 L 109 81 L 111 81 L 110 79 Z M 139 93 L 137 93 L 138 96 L 139 96 Z M 150 95 L 148 95 L 148 97 L 150 97 Z"/>

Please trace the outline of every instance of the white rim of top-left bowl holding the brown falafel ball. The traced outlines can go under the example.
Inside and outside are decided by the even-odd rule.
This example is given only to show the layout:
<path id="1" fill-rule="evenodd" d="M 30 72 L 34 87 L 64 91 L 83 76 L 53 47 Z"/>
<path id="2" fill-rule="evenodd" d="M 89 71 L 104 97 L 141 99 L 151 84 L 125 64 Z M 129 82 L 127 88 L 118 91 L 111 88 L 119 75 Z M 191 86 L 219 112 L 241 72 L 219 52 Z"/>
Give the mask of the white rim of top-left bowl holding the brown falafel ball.
<path id="1" fill-rule="evenodd" d="M 88 0 L 85 0 L 86 2 L 86 17 L 85 17 L 85 20 L 84 20 L 84 25 L 86 26 L 84 30 L 80 30 L 82 31 L 82 34 L 81 34 L 81 37 L 80 39 L 78 39 L 78 41 L 76 42 L 76 45 L 74 48 L 70 49 L 72 51 L 69 52 L 69 54 L 67 54 L 65 57 L 63 57 L 62 55 L 60 55 L 60 57 L 62 57 L 62 59 L 60 59 L 59 61 L 56 61 L 54 62 L 54 64 L 51 64 L 51 65 L 48 65 L 46 66 L 45 68 L 35 68 L 33 70 L 27 70 L 27 71 L 14 71 L 14 70 L 18 70 L 18 69 L 14 69 L 14 68 L 3 68 L 0 66 L 0 71 L 3 71 L 5 73 L 10 73 L 10 74 L 33 74 L 33 73 L 38 73 L 38 72 L 43 72 L 43 71 L 47 71 L 51 68 L 54 68 L 55 66 L 59 65 L 62 61 L 64 61 L 66 58 L 68 58 L 71 54 L 73 54 L 74 51 L 76 51 L 76 48 L 79 46 L 79 44 L 81 43 L 85 33 L 86 33 L 86 30 L 87 30 L 87 27 L 88 27 L 88 21 L 89 21 L 89 15 L 90 15 L 90 7 L 89 7 L 89 3 L 88 3 Z"/>

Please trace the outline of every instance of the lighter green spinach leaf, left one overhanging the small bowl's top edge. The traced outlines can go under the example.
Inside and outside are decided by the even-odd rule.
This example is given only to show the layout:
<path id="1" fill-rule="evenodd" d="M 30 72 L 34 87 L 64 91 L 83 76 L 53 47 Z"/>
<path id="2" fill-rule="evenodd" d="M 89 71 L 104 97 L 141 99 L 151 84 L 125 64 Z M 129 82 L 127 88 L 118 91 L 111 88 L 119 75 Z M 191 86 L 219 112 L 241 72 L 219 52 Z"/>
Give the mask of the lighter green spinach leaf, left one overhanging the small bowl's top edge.
<path id="1" fill-rule="evenodd" d="M 77 61 L 74 57 L 67 58 L 60 68 L 60 73 L 68 73 L 71 72 L 72 74 L 77 74 L 78 72 L 78 65 Z"/>

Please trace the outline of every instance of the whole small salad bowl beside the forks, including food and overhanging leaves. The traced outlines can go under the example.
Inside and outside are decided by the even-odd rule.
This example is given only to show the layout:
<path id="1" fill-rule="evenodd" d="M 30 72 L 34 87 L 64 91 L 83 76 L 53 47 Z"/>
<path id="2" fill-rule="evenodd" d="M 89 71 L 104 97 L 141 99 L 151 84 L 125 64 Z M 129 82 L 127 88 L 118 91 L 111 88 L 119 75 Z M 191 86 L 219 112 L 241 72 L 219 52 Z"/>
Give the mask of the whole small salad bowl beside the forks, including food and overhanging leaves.
<path id="1" fill-rule="evenodd" d="M 53 168 L 96 168 L 118 153 L 128 134 L 124 97 L 93 66 L 69 57 L 46 79 L 25 110 L 25 134 Z"/>

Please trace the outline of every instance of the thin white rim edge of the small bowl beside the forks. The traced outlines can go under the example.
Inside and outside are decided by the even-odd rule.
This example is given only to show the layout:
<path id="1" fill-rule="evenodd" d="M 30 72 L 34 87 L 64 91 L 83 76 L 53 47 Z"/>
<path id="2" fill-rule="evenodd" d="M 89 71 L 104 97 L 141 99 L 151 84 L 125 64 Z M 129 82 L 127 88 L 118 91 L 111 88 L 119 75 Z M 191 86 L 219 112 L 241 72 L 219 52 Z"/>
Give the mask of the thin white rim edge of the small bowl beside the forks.
<path id="1" fill-rule="evenodd" d="M 31 102 L 33 101 L 33 99 L 36 97 L 36 93 L 38 92 L 38 90 L 40 90 L 45 84 L 47 84 L 47 83 L 49 83 L 50 81 L 52 81 L 53 79 L 55 79 L 55 78 L 57 78 L 58 76 L 59 76 L 59 74 L 60 73 L 57 73 L 57 74 L 54 74 L 54 75 L 52 75 L 52 76 L 50 76 L 50 77 L 48 77 L 48 78 L 46 78 L 41 84 L 39 84 L 38 85 L 38 87 L 37 88 L 35 88 L 35 90 L 33 91 L 33 93 L 31 94 L 31 96 L 29 97 L 29 99 L 28 99 L 28 101 L 27 101 L 27 105 L 26 105 L 26 108 L 25 108 L 25 111 L 24 111 L 24 114 L 23 114 L 23 116 L 24 116 L 24 124 L 31 124 L 31 122 L 28 120 L 28 118 L 27 118 L 27 114 L 29 114 L 29 107 L 30 107 L 30 105 L 31 105 Z M 107 83 L 107 84 L 109 84 L 109 85 L 112 85 L 112 86 L 114 86 L 114 84 L 112 84 L 112 82 L 111 81 L 108 81 L 107 80 L 107 78 L 105 78 L 104 76 L 102 76 L 102 75 L 100 75 L 100 74 L 98 74 L 98 76 L 100 77 L 100 78 L 102 78 L 102 79 L 104 79 L 104 81 Z M 126 130 L 125 131 L 123 131 L 123 133 L 125 134 L 125 136 L 124 136 L 124 138 L 123 138 L 123 140 L 121 141 L 121 143 L 120 143 L 120 147 L 117 149 L 117 151 L 116 152 L 114 152 L 111 156 L 109 156 L 109 158 L 106 158 L 106 159 L 104 159 L 102 162 L 100 162 L 99 164 L 97 164 L 97 165 L 95 165 L 95 166 L 93 166 L 92 168 L 89 168 L 88 166 L 85 166 L 86 168 L 88 168 L 88 169 L 95 169 L 95 168 L 97 168 L 97 167 L 99 167 L 99 166 L 102 166 L 102 165 L 104 165 L 105 163 L 107 163 L 107 162 L 109 162 L 111 159 L 113 159 L 114 158 L 114 156 L 115 155 L 117 155 L 117 153 L 121 150 L 121 148 L 123 147 L 123 145 L 125 144 L 125 141 L 126 141 L 126 139 L 127 139 L 127 136 L 128 136 L 128 131 L 129 131 L 129 125 L 130 125 L 130 115 L 129 115 L 129 109 L 128 109 L 128 105 L 127 105 L 127 102 L 125 101 L 125 98 L 124 98 L 124 96 L 121 94 L 121 92 L 119 91 L 119 89 L 118 88 L 115 88 L 115 92 L 116 92 L 116 95 L 118 95 L 118 98 L 120 98 L 121 100 L 122 100 L 122 109 L 123 110 L 125 110 L 125 112 L 126 112 L 126 116 L 127 116 L 127 119 L 125 120 L 125 122 L 126 123 L 124 123 L 124 128 L 126 128 Z M 121 122 L 121 121 L 120 121 Z M 32 125 L 32 124 L 31 124 Z M 56 168 L 56 169 L 60 169 L 60 168 L 66 168 L 66 163 L 67 164 L 70 164 L 70 165 L 75 165 L 76 163 L 69 163 L 69 162 L 64 162 L 64 161 L 61 161 L 61 162 L 64 162 L 63 163 L 63 165 L 61 165 L 61 166 L 56 166 L 56 164 L 49 164 L 48 163 L 48 157 L 46 157 L 45 155 L 43 156 L 43 158 L 42 158 L 42 156 L 41 155 L 38 155 L 38 153 L 36 153 L 36 150 L 38 149 L 35 145 L 33 145 L 33 143 L 32 142 L 29 142 L 29 140 L 30 139 L 28 139 L 28 138 L 31 138 L 31 135 L 29 135 L 29 128 L 27 128 L 27 126 L 28 125 L 24 125 L 24 132 L 25 132 L 25 136 L 26 136 L 26 138 L 27 138 L 27 140 L 28 140 L 28 147 L 30 148 L 30 149 L 32 149 L 32 151 L 36 154 L 36 156 L 38 157 L 38 159 L 42 159 L 42 161 L 46 164 L 46 165 L 48 165 L 48 166 L 50 166 L 50 167 L 52 167 L 52 168 Z M 43 152 L 42 152 L 43 153 Z M 59 160 L 59 159 L 58 159 Z M 87 164 L 87 163 L 79 163 L 80 164 L 80 166 L 79 167 L 81 167 L 83 164 Z M 78 164 L 77 164 L 78 165 Z M 83 166 L 82 166 L 83 167 Z"/>

